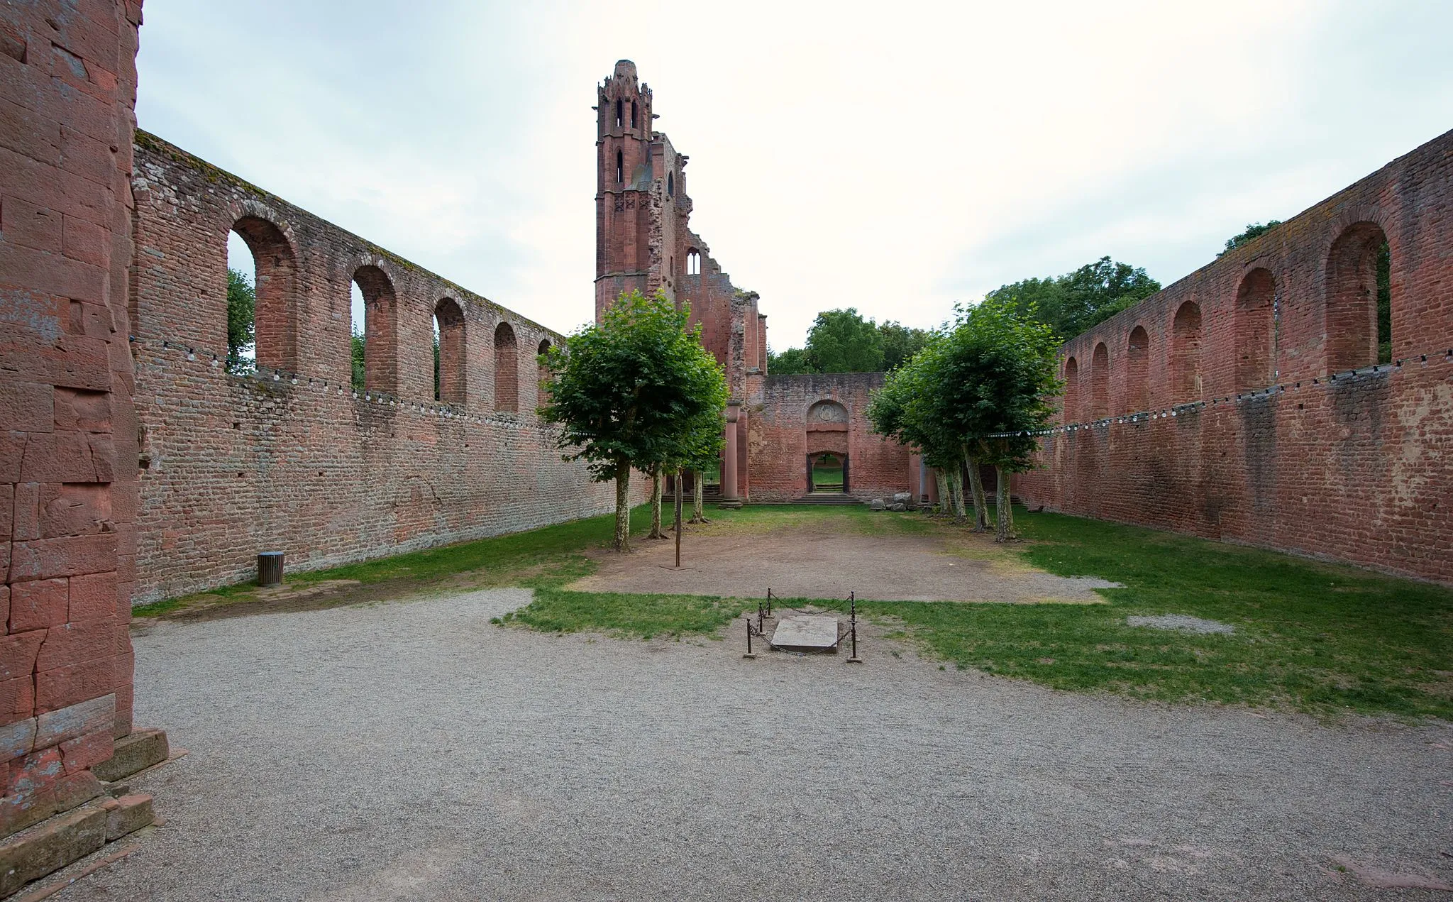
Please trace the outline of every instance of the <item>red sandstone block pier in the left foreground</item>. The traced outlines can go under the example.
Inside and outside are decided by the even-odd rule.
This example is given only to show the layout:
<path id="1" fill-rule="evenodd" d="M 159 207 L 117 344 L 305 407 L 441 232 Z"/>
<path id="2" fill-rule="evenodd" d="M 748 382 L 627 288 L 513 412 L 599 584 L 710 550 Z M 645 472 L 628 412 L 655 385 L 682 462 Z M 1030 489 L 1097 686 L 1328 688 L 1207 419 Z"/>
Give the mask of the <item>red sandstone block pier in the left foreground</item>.
<path id="1" fill-rule="evenodd" d="M 141 3 L 0 4 L 0 835 L 131 732 L 126 266 Z"/>

